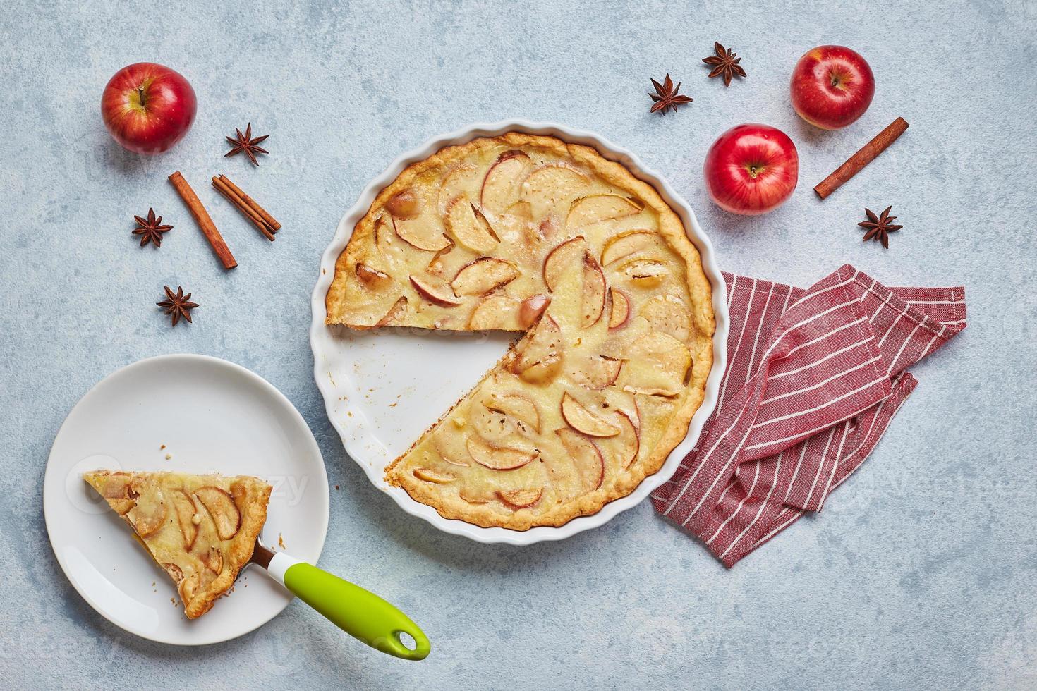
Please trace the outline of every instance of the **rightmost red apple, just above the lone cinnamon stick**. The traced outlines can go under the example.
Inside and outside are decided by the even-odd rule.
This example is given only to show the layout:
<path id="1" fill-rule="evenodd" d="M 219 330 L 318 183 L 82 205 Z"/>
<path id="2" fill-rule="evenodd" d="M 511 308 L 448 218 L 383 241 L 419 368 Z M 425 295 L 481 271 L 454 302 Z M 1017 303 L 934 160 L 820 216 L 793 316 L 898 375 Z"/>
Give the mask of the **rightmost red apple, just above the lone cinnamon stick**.
<path id="1" fill-rule="evenodd" d="M 875 95 L 868 62 L 843 46 L 807 51 L 792 70 L 792 108 L 824 129 L 845 127 L 864 115 Z"/>

